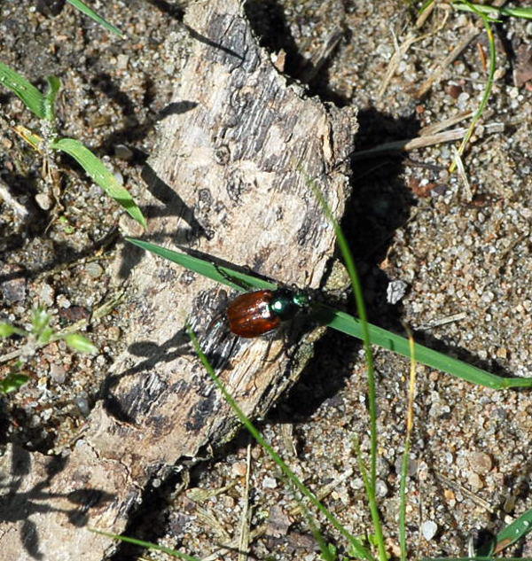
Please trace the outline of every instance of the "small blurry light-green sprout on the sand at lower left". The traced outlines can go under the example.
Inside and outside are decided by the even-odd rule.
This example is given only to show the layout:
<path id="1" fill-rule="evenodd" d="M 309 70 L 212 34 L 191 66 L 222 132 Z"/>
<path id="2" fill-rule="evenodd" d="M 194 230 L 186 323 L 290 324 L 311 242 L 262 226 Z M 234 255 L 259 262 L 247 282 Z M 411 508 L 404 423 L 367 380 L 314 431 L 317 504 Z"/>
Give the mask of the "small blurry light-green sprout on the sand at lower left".
<path id="1" fill-rule="evenodd" d="M 52 341 L 62 339 L 68 347 L 80 353 L 98 352 L 98 348 L 79 333 L 54 331 L 50 326 L 50 320 L 51 316 L 43 308 L 35 308 L 32 314 L 31 326 L 28 330 L 15 327 L 11 323 L 0 323 L 0 339 L 5 339 L 12 335 L 27 338 L 19 354 L 19 359 L 12 365 L 9 374 L 0 380 L 0 393 L 15 392 L 20 386 L 26 384 L 29 379 L 24 370 L 26 362 L 35 355 L 37 349 Z"/>

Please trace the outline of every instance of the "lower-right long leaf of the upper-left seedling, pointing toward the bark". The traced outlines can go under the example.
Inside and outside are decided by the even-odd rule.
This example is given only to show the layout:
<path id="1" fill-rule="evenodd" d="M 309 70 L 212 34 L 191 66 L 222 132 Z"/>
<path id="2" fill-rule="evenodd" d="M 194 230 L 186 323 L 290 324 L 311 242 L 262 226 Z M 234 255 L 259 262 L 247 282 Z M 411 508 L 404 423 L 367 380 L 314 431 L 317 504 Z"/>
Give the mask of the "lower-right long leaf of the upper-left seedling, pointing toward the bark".
<path id="1" fill-rule="evenodd" d="M 90 152 L 89 148 L 74 138 L 61 138 L 51 143 L 51 148 L 72 156 L 90 175 L 94 183 L 98 183 L 107 195 L 121 205 L 132 218 L 144 228 L 146 227 L 145 217 L 129 191 L 118 182 L 116 177 L 106 168 L 104 162 Z"/>

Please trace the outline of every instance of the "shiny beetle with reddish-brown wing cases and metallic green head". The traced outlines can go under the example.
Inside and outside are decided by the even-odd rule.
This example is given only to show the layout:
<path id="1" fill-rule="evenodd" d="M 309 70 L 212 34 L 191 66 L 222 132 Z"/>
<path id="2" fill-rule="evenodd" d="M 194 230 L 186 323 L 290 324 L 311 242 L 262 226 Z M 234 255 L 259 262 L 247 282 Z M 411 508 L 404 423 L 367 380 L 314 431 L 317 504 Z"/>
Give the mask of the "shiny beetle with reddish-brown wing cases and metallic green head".
<path id="1" fill-rule="evenodd" d="M 286 287 L 240 294 L 227 307 L 231 332 L 238 337 L 260 337 L 309 308 L 308 292 Z"/>

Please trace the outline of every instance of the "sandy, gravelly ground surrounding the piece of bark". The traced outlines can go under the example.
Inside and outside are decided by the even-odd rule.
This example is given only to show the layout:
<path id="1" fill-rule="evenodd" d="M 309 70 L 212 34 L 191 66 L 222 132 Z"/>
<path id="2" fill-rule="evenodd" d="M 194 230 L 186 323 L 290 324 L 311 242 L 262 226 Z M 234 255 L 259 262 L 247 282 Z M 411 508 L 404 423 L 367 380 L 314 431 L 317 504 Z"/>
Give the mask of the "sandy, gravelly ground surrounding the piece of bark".
<path id="1" fill-rule="evenodd" d="M 91 5 L 127 37 L 108 34 L 68 4 L 4 0 L 0 59 L 38 87 L 49 74 L 60 77 L 61 134 L 106 160 L 135 196 L 143 190 L 141 170 L 178 79 L 165 40 L 176 33 L 186 6 L 158 0 Z M 477 18 L 449 4 L 440 3 L 419 28 L 407 4 L 393 0 L 266 0 L 248 4 L 247 11 L 261 44 L 286 53 L 286 74 L 308 84 L 309 95 L 358 107 L 357 152 L 415 138 L 480 103 L 486 34 Z M 473 38 L 465 43 L 468 36 Z M 460 44 L 457 57 L 444 62 Z M 468 183 L 447 171 L 457 143 L 356 155 L 342 226 L 372 323 L 387 329 L 407 323 L 428 347 L 497 374 L 529 378 L 532 23 L 503 19 L 496 44 L 493 92 L 465 152 Z M 388 80 L 397 49 L 403 54 Z M 0 102 L 0 321 L 27 324 L 41 302 L 59 328 L 90 318 L 124 289 L 127 299 L 127 283 L 117 283 L 110 268 L 121 248 L 121 209 L 70 161 L 58 162 L 59 183 L 45 183 L 40 158 L 10 129 L 23 124 L 38 131 L 38 121 L 8 90 L 0 90 Z M 407 287 L 393 306 L 386 299 L 392 280 Z M 31 381 L 2 401 L 2 441 L 45 453 L 66 447 L 100 397 L 127 330 L 128 317 L 118 305 L 90 322 L 87 334 L 98 355 L 77 355 L 62 343 L 37 353 L 28 363 Z M 2 355 L 18 346 L 20 341 L 4 342 Z M 0 377 L 10 362 L 1 366 Z M 396 555 L 409 362 L 376 349 L 376 366 L 379 495 L 387 544 Z M 360 345 L 328 332 L 301 381 L 261 423 L 312 490 L 332 486 L 325 504 L 356 535 L 371 533 L 352 443 L 358 435 L 368 446 L 364 374 Z M 411 558 L 464 556 L 471 540 L 496 534 L 532 508 L 532 398 L 529 391 L 489 390 L 425 367 L 419 367 L 417 391 Z M 231 540 L 242 513 L 246 446 L 241 435 L 216 461 L 196 468 L 185 493 L 163 486 L 164 494 L 146 499 L 127 534 L 198 557 Z M 250 523 L 265 524 L 252 543 L 254 556 L 317 559 L 309 527 L 290 512 L 293 496 L 270 458 L 256 446 L 251 458 Z M 322 530 L 342 551 L 340 537 L 325 523 Z M 507 554 L 532 557 L 530 536 Z M 145 554 L 150 556 L 160 558 Z M 212 558 L 237 556 L 230 551 Z M 114 560 L 129 558 L 137 553 L 122 549 Z"/>

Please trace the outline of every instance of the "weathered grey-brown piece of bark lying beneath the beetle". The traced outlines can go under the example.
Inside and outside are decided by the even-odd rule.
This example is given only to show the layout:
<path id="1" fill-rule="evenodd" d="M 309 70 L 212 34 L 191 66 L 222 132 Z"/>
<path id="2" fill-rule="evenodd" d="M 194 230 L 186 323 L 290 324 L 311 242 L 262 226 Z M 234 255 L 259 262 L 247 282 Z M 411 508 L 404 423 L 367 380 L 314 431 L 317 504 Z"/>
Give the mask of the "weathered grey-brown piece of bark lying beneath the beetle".
<path id="1" fill-rule="evenodd" d="M 185 26 L 173 103 L 146 173 L 144 238 L 317 287 L 334 234 L 308 182 L 317 179 L 340 217 L 354 112 L 305 98 L 278 74 L 240 2 L 192 4 Z M 126 245 L 122 272 L 136 257 Z M 4 558 L 100 561 L 113 542 L 86 526 L 120 534 L 164 466 L 204 455 L 237 427 L 184 332 L 190 317 L 209 356 L 227 354 L 231 341 L 217 327 L 207 330 L 222 290 L 152 254 L 132 269 L 130 286 L 121 310 L 130 319 L 128 352 L 113 365 L 104 399 L 70 454 L 46 458 L 10 447 L 1 460 L 4 489 L 11 489 L 0 512 Z M 275 361 L 263 361 L 265 339 L 239 340 L 225 357 L 221 377 L 250 417 L 263 415 L 299 376 L 312 335 L 288 353 L 283 344 L 273 342 Z"/>

